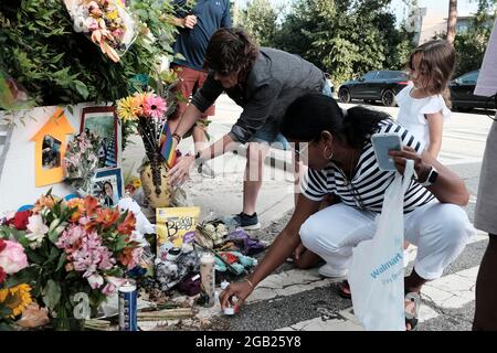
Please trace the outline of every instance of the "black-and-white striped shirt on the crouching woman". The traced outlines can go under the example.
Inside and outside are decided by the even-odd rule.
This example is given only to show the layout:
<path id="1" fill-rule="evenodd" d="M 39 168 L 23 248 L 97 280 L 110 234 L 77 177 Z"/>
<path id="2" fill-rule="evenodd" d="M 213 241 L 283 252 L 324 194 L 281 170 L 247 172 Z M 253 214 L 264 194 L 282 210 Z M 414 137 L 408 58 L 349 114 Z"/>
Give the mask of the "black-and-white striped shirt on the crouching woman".
<path id="1" fill-rule="evenodd" d="M 399 133 L 404 146 L 420 152 L 421 142 L 393 120 L 380 121 L 376 132 Z M 394 178 L 394 171 L 380 170 L 372 143 L 369 140 L 362 148 L 351 181 L 346 178 L 341 169 L 331 162 L 320 171 L 309 168 L 302 180 L 300 191 L 313 201 L 321 201 L 328 194 L 336 194 L 346 205 L 380 213 L 384 192 Z M 404 195 L 404 213 L 414 211 L 433 199 L 434 196 L 429 190 L 413 180 Z"/>

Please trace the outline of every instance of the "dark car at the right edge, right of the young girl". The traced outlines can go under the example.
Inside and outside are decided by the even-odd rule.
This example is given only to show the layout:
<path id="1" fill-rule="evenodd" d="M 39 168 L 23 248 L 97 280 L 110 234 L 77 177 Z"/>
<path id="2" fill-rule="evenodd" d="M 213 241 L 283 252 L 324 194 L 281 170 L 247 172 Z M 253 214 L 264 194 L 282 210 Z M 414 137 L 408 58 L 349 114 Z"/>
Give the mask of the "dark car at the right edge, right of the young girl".
<path id="1" fill-rule="evenodd" d="M 474 95 L 479 69 L 464 74 L 448 84 L 452 109 L 469 111 L 473 108 L 496 109 L 496 99 Z"/>

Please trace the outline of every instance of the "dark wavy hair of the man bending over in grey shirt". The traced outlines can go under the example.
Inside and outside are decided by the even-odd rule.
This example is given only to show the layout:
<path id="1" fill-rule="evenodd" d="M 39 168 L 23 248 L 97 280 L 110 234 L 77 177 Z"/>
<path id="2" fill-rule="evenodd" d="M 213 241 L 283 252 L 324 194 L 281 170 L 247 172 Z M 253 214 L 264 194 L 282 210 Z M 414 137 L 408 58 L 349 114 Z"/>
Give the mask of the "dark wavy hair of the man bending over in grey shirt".
<path id="1" fill-rule="evenodd" d="M 242 29 L 220 29 L 209 41 L 203 68 L 222 76 L 245 77 L 258 55 L 258 45 Z"/>

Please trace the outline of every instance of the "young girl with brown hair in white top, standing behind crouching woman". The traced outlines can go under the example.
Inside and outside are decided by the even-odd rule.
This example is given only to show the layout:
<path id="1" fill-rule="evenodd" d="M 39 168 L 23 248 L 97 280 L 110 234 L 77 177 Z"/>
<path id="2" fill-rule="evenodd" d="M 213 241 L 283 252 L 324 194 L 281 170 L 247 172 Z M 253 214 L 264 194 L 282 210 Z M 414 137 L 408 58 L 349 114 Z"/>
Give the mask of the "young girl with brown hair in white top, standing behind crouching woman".
<path id="1" fill-rule="evenodd" d="M 447 41 L 426 42 L 414 50 L 409 60 L 413 85 L 396 95 L 400 107 L 398 122 L 422 143 L 433 158 L 442 147 L 442 129 L 451 110 L 447 83 L 455 64 L 454 47 Z M 444 99 L 445 97 L 445 99 Z"/>

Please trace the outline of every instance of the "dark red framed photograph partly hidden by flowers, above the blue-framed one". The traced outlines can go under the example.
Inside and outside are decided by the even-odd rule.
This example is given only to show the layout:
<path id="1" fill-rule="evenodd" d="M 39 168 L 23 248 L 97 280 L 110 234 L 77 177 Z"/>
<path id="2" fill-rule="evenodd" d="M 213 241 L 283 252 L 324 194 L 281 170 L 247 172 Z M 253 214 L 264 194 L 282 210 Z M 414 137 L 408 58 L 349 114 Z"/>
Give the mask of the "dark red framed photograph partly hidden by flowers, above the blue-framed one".
<path id="1" fill-rule="evenodd" d="M 114 107 L 86 107 L 81 114 L 81 131 L 92 131 L 102 139 L 98 168 L 119 165 L 118 118 Z"/>

